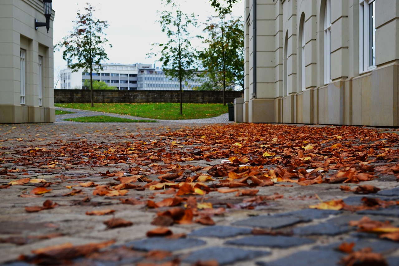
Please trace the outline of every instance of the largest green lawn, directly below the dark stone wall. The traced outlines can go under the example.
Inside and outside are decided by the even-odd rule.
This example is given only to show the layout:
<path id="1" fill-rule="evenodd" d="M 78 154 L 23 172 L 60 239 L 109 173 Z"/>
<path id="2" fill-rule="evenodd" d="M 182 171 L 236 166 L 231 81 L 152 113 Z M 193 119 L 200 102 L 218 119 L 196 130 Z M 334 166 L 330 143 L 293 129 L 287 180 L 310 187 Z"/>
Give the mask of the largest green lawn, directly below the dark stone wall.
<path id="1" fill-rule="evenodd" d="M 183 103 L 183 115 L 180 115 L 180 103 L 55 103 L 56 107 L 100 111 L 133 115 L 150 119 L 200 119 L 216 117 L 227 113 L 227 105 L 221 103 Z"/>

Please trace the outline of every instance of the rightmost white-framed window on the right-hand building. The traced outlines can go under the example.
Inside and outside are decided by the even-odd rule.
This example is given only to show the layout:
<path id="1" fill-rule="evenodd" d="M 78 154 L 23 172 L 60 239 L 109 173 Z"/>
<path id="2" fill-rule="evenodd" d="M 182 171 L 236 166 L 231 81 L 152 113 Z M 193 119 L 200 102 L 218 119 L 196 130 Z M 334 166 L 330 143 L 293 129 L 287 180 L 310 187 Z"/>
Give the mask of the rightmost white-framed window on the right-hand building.
<path id="1" fill-rule="evenodd" d="M 375 68 L 375 0 L 359 2 L 360 72 Z"/>

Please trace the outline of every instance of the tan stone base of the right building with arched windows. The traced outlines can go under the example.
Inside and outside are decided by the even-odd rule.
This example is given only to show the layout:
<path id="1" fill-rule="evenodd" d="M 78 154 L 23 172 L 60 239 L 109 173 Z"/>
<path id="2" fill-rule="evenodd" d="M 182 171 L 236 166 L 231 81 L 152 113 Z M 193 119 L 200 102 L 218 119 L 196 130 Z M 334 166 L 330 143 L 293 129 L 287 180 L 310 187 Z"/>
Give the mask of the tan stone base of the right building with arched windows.
<path id="1" fill-rule="evenodd" d="M 399 126 L 399 61 L 352 79 L 244 102 L 244 122 Z"/>

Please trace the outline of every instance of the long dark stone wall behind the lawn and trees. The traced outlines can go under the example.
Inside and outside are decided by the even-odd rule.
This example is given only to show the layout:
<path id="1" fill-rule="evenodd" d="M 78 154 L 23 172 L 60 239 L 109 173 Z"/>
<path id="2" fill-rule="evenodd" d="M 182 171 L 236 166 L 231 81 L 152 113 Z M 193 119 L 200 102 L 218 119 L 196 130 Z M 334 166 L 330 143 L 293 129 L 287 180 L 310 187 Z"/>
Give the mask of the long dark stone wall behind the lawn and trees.
<path id="1" fill-rule="evenodd" d="M 226 103 L 242 91 L 226 91 Z M 179 103 L 180 91 L 93 90 L 95 103 Z M 55 89 L 54 103 L 90 103 L 90 90 Z M 223 91 L 183 91 L 183 103 L 223 103 Z"/>

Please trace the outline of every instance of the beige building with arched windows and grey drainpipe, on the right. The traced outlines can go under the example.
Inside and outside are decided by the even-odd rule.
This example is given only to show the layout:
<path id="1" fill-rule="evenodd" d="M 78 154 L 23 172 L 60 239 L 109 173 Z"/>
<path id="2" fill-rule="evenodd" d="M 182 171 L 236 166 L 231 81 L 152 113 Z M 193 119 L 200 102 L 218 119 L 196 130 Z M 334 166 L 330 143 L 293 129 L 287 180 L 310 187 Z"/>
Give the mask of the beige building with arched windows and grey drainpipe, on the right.
<path id="1" fill-rule="evenodd" d="M 245 19 L 242 121 L 399 126 L 399 1 L 245 0 Z"/>

